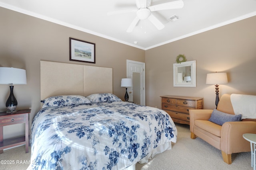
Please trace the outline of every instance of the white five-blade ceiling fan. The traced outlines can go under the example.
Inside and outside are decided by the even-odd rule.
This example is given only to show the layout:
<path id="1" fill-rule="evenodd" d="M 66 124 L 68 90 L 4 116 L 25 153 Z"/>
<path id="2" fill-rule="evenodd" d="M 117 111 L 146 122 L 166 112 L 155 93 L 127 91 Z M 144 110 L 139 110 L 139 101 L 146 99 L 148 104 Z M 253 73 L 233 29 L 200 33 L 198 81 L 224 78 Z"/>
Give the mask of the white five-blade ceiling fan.
<path id="1" fill-rule="evenodd" d="M 182 0 L 166 2 L 163 4 L 158 5 L 151 5 L 152 0 L 136 0 L 136 6 L 138 9 L 132 10 L 119 10 L 114 12 L 108 12 L 107 15 L 114 15 L 114 14 L 123 14 L 128 12 L 136 12 L 136 17 L 126 30 L 126 32 L 132 32 L 134 27 L 137 25 L 138 21 L 140 20 L 150 20 L 155 27 L 160 30 L 164 28 L 164 24 L 162 24 L 151 12 L 153 11 L 160 11 L 160 10 L 170 10 L 170 9 L 179 9 L 183 8 L 184 3 Z"/>

